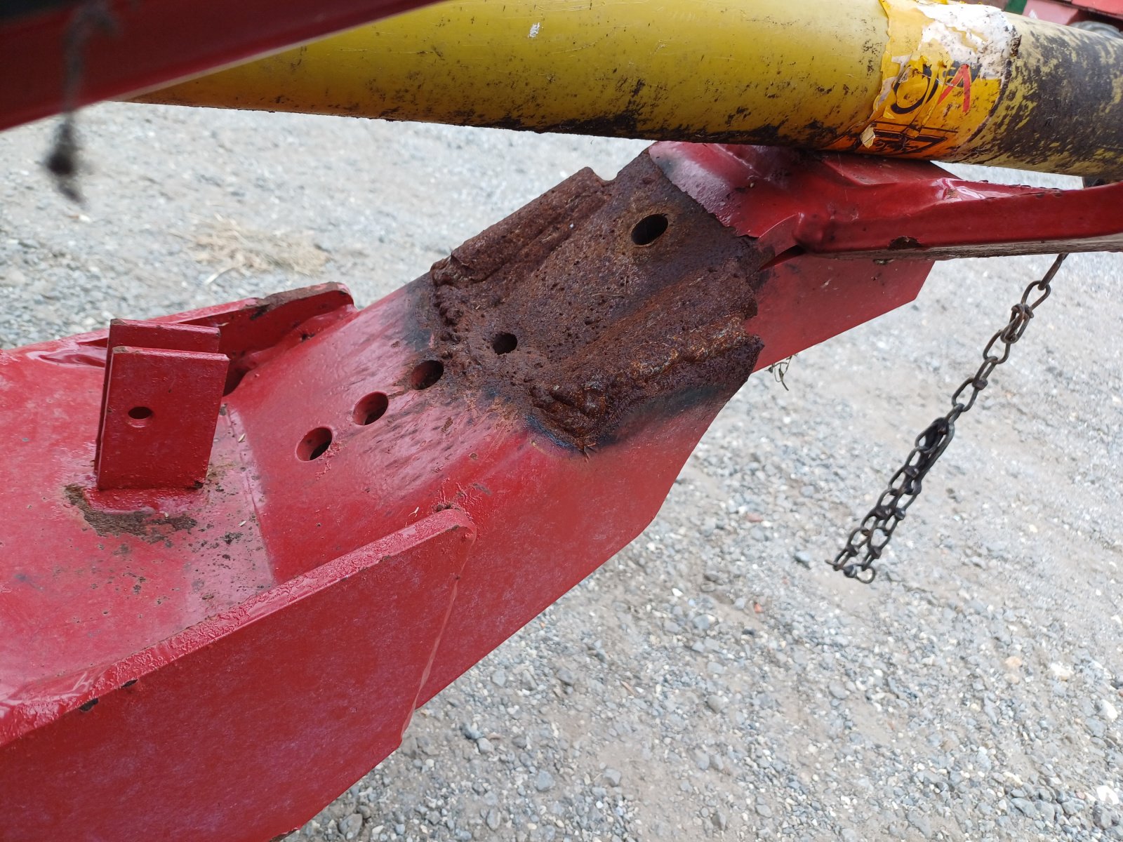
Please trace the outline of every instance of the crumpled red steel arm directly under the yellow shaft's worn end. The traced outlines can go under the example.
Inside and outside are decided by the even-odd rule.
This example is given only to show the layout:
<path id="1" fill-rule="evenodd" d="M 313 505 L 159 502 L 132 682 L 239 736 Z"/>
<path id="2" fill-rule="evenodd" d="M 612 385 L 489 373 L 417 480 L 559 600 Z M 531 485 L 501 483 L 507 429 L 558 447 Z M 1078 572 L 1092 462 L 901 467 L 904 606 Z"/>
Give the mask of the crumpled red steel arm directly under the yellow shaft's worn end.
<path id="1" fill-rule="evenodd" d="M 707 211 L 777 254 L 939 259 L 1123 249 L 1123 182 L 988 184 L 926 161 L 721 144 L 657 144 L 652 157 Z"/>

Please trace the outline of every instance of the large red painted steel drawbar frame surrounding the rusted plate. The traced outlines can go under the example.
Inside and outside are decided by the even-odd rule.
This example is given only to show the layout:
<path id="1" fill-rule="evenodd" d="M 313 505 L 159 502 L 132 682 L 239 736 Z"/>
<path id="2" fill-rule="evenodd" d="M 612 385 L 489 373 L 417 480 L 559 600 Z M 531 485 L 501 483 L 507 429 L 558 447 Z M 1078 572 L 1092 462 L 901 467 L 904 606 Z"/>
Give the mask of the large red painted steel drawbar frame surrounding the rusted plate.
<path id="1" fill-rule="evenodd" d="M 925 228 L 907 229 L 913 259 L 807 253 L 838 242 L 816 234 L 832 226 L 861 249 L 885 239 L 860 238 L 879 209 L 851 196 L 888 187 L 862 185 L 959 207 L 931 165 L 651 155 L 756 238 L 758 368 L 919 292 Z M 618 249 L 639 260 L 630 225 Z M 0 351 L 0 839 L 263 842 L 300 826 L 418 705 L 647 525 L 748 373 L 641 404 L 583 452 L 440 376 L 424 284 L 360 312 L 326 285 L 165 320 L 218 329 L 230 360 L 194 491 L 97 488 L 104 332 Z"/>

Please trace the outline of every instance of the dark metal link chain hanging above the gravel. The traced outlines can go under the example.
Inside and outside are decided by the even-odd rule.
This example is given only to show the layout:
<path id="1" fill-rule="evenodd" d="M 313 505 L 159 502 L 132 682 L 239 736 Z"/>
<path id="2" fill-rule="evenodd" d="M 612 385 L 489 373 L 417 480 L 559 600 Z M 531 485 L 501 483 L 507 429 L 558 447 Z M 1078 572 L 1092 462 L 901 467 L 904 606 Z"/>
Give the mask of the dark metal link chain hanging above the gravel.
<path id="1" fill-rule="evenodd" d="M 850 533 L 846 547 L 839 550 L 833 561 L 828 561 L 836 570 L 851 579 L 865 584 L 877 577 L 874 561 L 882 557 L 886 546 L 893 538 L 897 524 L 905 518 L 905 512 L 920 495 L 921 486 L 928 472 L 937 459 L 943 455 L 956 434 L 956 421 L 975 405 L 979 392 L 987 387 L 990 374 L 996 367 L 1010 359 L 1010 347 L 1022 338 L 1025 328 L 1033 318 L 1033 311 L 1052 292 L 1050 283 L 1060 268 L 1067 254 L 1057 255 L 1052 266 L 1040 281 L 1034 281 L 1025 287 L 1022 300 L 1010 310 L 1010 321 L 995 333 L 986 348 L 983 349 L 983 365 L 975 376 L 968 377 L 955 394 L 951 395 L 951 411 L 935 419 L 924 432 L 916 437 L 915 445 L 905 464 L 889 479 L 889 486 L 882 492 L 877 503 L 861 520 L 861 523 Z M 994 353 L 995 346 L 1002 344 L 1002 356 Z M 965 393 L 970 394 L 965 399 Z M 859 558 L 859 556 L 861 558 Z"/>

